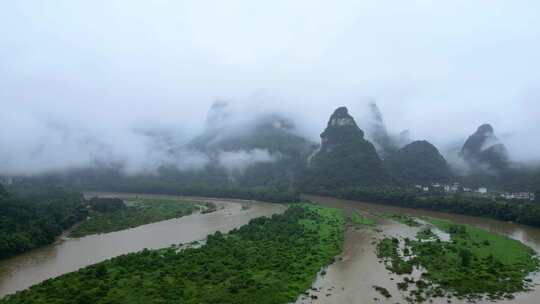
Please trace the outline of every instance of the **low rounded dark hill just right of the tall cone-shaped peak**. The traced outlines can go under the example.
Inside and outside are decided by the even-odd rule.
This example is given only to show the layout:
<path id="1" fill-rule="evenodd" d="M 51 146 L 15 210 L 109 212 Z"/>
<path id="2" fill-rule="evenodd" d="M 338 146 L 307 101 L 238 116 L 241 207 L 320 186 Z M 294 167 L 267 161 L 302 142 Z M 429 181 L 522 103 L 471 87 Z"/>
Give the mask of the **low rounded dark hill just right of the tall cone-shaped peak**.
<path id="1" fill-rule="evenodd" d="M 447 182 L 450 167 L 439 150 L 428 141 L 414 141 L 390 155 L 385 163 L 391 174 L 404 183 Z"/>

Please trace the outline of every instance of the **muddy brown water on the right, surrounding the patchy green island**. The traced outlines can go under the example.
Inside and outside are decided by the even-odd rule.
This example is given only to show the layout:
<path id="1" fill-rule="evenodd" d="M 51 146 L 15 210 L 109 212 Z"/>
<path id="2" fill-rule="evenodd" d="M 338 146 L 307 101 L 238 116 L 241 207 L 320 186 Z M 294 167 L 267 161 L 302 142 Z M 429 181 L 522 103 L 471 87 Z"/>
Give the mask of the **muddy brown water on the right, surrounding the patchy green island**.
<path id="1" fill-rule="evenodd" d="M 430 212 L 408 208 L 382 206 L 363 202 L 355 202 L 327 197 L 307 196 L 306 198 L 319 202 L 321 205 L 345 209 L 347 212 L 360 210 L 371 213 L 401 213 L 411 216 L 432 216 L 451 220 L 457 223 L 469 224 L 491 232 L 503 234 L 519 240 L 540 252 L 540 229 L 500 222 L 490 219 Z M 396 283 L 403 280 L 403 276 L 389 273 L 384 264 L 380 263 L 375 254 L 375 241 L 386 236 L 411 237 L 416 234 L 415 228 L 408 227 L 394 221 L 383 220 L 379 223 L 380 230 L 371 228 L 349 228 L 345 234 L 343 253 L 336 262 L 326 269 L 326 275 L 319 276 L 308 296 L 298 299 L 297 304 L 303 303 L 407 303 L 404 295 L 397 289 Z M 413 274 L 414 275 L 414 274 Z M 519 293 L 513 300 L 501 300 L 496 303 L 538 304 L 540 303 L 540 276 L 533 274 L 533 282 L 537 285 L 533 291 Z M 378 293 L 373 286 L 386 288 L 391 298 L 386 299 Z M 312 299 L 314 295 L 316 299 Z M 430 303 L 430 302 L 426 302 Z M 433 303 L 448 303 L 446 298 L 435 298 Z M 465 304 L 466 301 L 452 299 L 451 303 Z M 479 301 L 478 303 L 493 303 Z"/>

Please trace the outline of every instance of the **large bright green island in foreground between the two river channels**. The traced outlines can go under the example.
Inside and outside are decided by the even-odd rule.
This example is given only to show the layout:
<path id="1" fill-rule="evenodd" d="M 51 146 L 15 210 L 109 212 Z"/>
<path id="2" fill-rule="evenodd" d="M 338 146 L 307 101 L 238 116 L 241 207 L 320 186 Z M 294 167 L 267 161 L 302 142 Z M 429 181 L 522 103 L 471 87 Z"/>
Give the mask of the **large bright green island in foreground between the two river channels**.
<path id="1" fill-rule="evenodd" d="M 118 256 L 0 303 L 289 303 L 341 252 L 344 226 L 340 210 L 291 205 L 199 248 Z"/>

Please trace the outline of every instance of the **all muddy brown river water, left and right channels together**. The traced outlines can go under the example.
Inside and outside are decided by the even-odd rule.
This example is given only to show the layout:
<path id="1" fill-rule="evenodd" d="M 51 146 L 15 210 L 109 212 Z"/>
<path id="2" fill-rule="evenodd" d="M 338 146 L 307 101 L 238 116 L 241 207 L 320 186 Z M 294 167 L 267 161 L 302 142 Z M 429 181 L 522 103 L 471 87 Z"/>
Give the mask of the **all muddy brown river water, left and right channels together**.
<path id="1" fill-rule="evenodd" d="M 165 197 L 163 195 L 97 193 L 100 196 L 133 198 L 133 197 Z M 96 193 L 90 193 L 90 196 Z M 105 259 L 139 251 L 143 248 L 163 248 L 171 244 L 187 243 L 202 240 L 208 234 L 245 225 L 250 219 L 281 213 L 285 206 L 261 202 L 246 202 L 229 199 L 186 198 L 191 201 L 214 202 L 219 210 L 209 214 L 194 214 L 180 219 L 168 220 L 137 228 L 87 236 L 79 239 L 61 238 L 57 243 L 33 250 L 26 254 L 0 262 L 0 297 L 25 289 L 45 279 L 81 267 L 94 264 Z M 321 205 L 342 208 L 348 212 L 361 210 L 372 213 L 405 213 L 411 216 L 433 216 L 452 220 L 458 223 L 474 225 L 488 231 L 507 235 L 524 242 L 540 252 L 540 229 L 514 223 L 500 222 L 490 219 L 422 211 L 408 208 L 382 206 L 363 202 L 340 200 L 334 198 L 308 196 Z M 242 210 L 248 203 L 250 208 Z M 309 291 L 309 296 L 299 298 L 300 303 L 406 303 L 403 295 L 397 290 L 396 283 L 402 278 L 389 273 L 375 255 L 374 241 L 384 235 L 414 236 L 414 228 L 393 222 L 382 221 L 374 229 L 347 229 L 343 253 L 336 262 L 326 269 L 326 275 L 320 276 L 313 287 L 317 291 Z M 533 282 L 540 285 L 540 277 L 532 276 Z M 384 298 L 374 290 L 373 285 L 386 288 L 392 297 Z M 317 299 L 312 299 L 314 295 Z M 429 303 L 429 302 L 427 302 Z M 447 299 L 434 299 L 434 303 L 447 303 Z M 466 303 L 452 299 L 452 303 Z M 491 303 L 491 302 L 485 302 Z M 497 303 L 538 304 L 540 303 L 540 286 L 532 292 L 520 293 L 514 300 Z"/>

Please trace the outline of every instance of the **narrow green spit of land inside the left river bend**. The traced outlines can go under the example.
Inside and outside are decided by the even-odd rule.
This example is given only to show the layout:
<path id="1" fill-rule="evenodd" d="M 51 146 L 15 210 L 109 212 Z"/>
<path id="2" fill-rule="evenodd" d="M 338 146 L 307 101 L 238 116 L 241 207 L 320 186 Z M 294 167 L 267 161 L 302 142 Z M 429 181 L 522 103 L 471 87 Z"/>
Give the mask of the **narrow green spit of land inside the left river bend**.
<path id="1" fill-rule="evenodd" d="M 88 218 L 70 237 L 109 233 L 154 222 L 190 215 L 197 210 L 216 210 L 213 203 L 195 203 L 178 199 L 136 198 L 125 202 L 118 198 L 93 198 L 88 202 Z"/>

